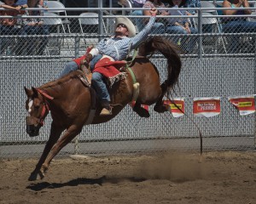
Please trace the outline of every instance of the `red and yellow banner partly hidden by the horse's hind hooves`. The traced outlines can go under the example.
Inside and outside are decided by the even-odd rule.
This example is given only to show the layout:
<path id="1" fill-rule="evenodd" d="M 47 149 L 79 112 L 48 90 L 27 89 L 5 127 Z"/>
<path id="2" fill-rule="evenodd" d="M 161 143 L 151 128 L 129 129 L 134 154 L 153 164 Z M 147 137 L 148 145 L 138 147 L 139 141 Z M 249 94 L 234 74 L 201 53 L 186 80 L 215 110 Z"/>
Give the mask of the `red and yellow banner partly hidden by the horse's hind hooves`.
<path id="1" fill-rule="evenodd" d="M 174 105 L 172 101 L 177 105 Z M 170 100 L 164 100 L 164 105 L 166 105 L 166 108 L 168 111 L 172 112 L 172 116 L 178 117 L 183 116 L 185 112 L 185 103 L 184 98 L 174 98 Z M 178 108 L 179 109 L 178 109 Z M 181 110 L 181 111 L 180 111 Z"/>

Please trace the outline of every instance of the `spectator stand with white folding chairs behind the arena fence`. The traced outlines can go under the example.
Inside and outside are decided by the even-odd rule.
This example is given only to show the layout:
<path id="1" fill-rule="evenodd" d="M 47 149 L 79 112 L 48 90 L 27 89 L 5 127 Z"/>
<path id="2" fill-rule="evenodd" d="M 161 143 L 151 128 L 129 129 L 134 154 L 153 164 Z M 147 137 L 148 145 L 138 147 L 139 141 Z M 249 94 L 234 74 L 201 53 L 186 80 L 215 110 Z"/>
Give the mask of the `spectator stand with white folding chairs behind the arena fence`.
<path id="1" fill-rule="evenodd" d="M 44 16 L 38 18 L 44 19 L 44 24 L 49 26 L 48 42 L 43 55 L 26 54 L 17 55 L 16 42 L 24 41 L 24 49 L 26 51 L 26 43 L 35 37 L 44 36 L 5 36 L 4 33 L 0 36 L 1 59 L 15 58 L 75 58 L 84 54 L 84 50 L 89 45 L 95 45 L 102 37 L 109 37 L 113 34 L 114 17 L 120 14 L 125 14 L 133 20 L 137 26 L 137 19 L 143 19 L 145 16 L 137 16 L 132 13 L 136 9 L 131 8 L 131 3 L 128 0 L 121 1 L 118 8 L 65 8 L 59 3 L 60 7 L 50 6 L 56 1 L 49 1 L 49 8 L 44 10 Z M 222 15 L 223 8 L 220 8 L 221 1 L 201 1 L 201 8 L 195 8 L 197 15 L 185 16 L 189 18 L 191 25 L 198 29 L 199 34 L 196 34 L 196 46 L 191 54 L 183 54 L 183 57 L 230 57 L 230 56 L 247 56 L 255 55 L 255 38 L 256 31 L 251 33 L 235 33 L 223 32 L 223 20 L 226 16 Z M 251 1 L 250 5 L 255 7 L 255 1 Z M 166 8 L 173 9 L 173 8 Z M 183 8 L 186 9 L 186 8 Z M 247 20 L 255 21 L 256 13 L 247 17 Z M 78 15 L 69 15 L 70 12 L 77 12 Z M 245 16 L 237 16 L 236 18 L 244 18 Z M 0 16 L 0 18 L 3 18 Z M 5 17 L 6 18 L 6 17 Z M 10 16 L 11 18 L 11 16 Z M 24 16 L 15 17 L 23 20 Z M 172 18 L 165 16 L 157 18 Z M 183 17 L 182 17 L 183 18 Z M 18 25 L 19 26 L 19 25 Z M 139 29 L 137 29 L 137 32 Z M 175 34 L 159 34 L 170 40 L 177 36 Z M 239 42 L 239 47 L 235 52 L 229 52 L 230 37 L 235 36 Z M 181 36 L 183 37 L 183 36 Z M 189 37 L 189 36 L 187 36 Z M 38 45 L 35 46 L 38 48 Z"/>

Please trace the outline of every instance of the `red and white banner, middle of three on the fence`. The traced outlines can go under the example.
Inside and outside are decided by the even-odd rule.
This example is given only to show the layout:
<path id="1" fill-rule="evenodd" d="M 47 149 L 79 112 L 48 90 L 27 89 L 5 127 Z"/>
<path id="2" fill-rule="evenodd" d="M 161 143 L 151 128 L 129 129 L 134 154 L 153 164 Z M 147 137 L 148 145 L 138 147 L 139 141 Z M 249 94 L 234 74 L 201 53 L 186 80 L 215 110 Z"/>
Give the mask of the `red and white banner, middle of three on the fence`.
<path id="1" fill-rule="evenodd" d="M 195 116 L 218 116 L 220 113 L 220 97 L 195 98 L 193 113 Z"/>

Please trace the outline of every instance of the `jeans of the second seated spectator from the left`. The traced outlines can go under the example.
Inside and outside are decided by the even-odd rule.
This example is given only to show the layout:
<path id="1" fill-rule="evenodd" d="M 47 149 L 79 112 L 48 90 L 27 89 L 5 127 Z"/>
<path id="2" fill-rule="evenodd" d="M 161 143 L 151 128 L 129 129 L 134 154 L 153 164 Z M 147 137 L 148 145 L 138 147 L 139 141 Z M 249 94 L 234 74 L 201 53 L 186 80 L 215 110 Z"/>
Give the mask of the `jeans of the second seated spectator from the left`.
<path id="1" fill-rule="evenodd" d="M 49 26 L 24 26 L 23 30 L 27 35 L 49 35 Z M 34 50 L 35 42 L 39 42 L 38 50 Z M 27 55 L 42 55 L 47 46 L 48 37 L 28 38 Z"/>

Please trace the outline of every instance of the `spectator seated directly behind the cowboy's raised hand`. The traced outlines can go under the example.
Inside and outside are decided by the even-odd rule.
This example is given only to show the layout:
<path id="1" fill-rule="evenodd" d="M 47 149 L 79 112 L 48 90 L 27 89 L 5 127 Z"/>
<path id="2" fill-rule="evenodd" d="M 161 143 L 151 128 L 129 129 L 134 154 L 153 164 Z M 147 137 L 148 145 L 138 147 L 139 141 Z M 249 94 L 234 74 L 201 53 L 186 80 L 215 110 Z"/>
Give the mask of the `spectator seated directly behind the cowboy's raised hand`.
<path id="1" fill-rule="evenodd" d="M 144 3 L 143 8 L 166 8 L 165 4 L 161 2 L 161 0 L 148 0 Z M 144 15 L 150 15 L 150 9 L 143 11 Z M 157 15 L 169 15 L 166 10 L 158 10 Z M 148 22 L 147 20 L 144 20 L 144 24 Z M 154 26 L 152 28 L 152 34 L 163 34 L 166 32 L 166 23 L 167 20 L 164 18 L 159 18 L 154 23 Z"/>

